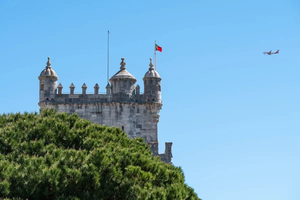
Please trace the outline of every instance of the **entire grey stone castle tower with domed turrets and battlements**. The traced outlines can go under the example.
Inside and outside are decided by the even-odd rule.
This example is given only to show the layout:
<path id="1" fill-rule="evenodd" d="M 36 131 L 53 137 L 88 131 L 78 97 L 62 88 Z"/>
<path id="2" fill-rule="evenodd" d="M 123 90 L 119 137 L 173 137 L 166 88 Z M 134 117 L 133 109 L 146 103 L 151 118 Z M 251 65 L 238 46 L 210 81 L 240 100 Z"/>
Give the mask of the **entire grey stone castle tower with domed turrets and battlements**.
<path id="1" fill-rule="evenodd" d="M 165 151 L 158 153 L 157 123 L 161 109 L 160 76 L 153 68 L 150 58 L 149 69 L 143 77 L 144 93 L 140 93 L 135 77 L 126 70 L 124 58 L 121 58 L 120 70 L 109 79 L 106 93 L 99 94 L 99 85 L 94 92 L 88 93 L 83 83 L 81 93 L 74 92 L 71 83 L 69 93 L 63 93 L 61 83 L 51 67 L 50 57 L 46 68 L 38 76 L 40 108 L 55 108 L 58 112 L 77 113 L 80 117 L 94 123 L 120 127 L 129 138 L 142 137 L 150 145 L 153 155 L 171 162 L 171 142 L 165 143 Z M 58 92 L 57 92 L 58 88 Z"/>

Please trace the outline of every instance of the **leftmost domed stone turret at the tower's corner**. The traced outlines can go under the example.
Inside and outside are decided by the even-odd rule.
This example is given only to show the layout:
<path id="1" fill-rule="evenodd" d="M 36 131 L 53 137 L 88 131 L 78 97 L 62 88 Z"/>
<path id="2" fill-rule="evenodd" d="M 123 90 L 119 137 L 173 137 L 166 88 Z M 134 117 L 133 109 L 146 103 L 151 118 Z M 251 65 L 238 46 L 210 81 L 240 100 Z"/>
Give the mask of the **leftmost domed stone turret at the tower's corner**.
<path id="1" fill-rule="evenodd" d="M 39 79 L 39 102 L 55 98 L 58 77 L 51 67 L 50 57 L 47 66 L 40 72 Z"/>

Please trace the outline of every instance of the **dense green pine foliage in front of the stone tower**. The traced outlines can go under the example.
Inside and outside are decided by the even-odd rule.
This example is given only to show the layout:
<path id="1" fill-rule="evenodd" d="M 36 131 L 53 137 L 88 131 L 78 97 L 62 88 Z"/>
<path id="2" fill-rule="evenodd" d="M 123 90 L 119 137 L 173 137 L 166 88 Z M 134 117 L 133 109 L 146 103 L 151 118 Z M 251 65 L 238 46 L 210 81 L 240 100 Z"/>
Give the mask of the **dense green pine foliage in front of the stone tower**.
<path id="1" fill-rule="evenodd" d="M 0 115 L 0 197 L 199 199 L 141 138 L 53 109 Z"/>

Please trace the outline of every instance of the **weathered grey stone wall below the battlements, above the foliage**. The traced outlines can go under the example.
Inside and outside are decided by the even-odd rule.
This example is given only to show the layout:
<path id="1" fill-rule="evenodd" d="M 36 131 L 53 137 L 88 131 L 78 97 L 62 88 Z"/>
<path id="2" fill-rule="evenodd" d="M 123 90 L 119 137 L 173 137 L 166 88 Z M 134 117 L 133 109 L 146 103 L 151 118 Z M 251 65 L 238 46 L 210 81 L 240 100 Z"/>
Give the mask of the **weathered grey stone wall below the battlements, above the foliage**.
<path id="1" fill-rule="evenodd" d="M 122 128 L 130 138 L 142 137 L 145 142 L 157 141 L 157 121 L 141 103 L 40 103 L 58 112 L 77 113 L 91 122 Z"/>

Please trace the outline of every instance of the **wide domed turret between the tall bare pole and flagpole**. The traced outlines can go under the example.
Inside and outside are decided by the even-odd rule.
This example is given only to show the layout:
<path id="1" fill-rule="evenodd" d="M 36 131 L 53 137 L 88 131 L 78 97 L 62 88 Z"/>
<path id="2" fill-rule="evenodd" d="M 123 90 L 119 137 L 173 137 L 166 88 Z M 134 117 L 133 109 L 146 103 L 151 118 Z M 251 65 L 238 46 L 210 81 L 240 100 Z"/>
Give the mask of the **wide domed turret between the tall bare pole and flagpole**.
<path id="1" fill-rule="evenodd" d="M 124 62 L 123 57 L 121 58 L 121 60 L 120 70 L 109 79 L 111 83 L 111 93 L 132 94 L 134 91 L 134 84 L 136 82 L 136 79 L 126 70 L 126 62 Z"/>

